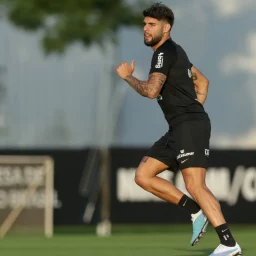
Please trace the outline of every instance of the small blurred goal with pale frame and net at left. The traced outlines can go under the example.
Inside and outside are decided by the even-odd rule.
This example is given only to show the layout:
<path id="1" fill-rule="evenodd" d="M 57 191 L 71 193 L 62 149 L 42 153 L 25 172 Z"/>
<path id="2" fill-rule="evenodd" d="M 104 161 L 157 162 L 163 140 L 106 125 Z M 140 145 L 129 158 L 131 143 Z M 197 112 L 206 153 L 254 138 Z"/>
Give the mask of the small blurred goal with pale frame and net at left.
<path id="1" fill-rule="evenodd" d="M 53 235 L 54 166 L 48 156 L 0 156 L 0 237 Z"/>

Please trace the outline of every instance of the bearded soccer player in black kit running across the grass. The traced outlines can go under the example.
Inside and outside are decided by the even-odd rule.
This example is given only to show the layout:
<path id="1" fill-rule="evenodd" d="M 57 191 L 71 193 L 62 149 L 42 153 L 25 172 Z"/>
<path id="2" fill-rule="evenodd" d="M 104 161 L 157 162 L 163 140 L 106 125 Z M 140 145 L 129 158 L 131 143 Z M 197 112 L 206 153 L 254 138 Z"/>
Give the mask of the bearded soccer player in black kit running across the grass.
<path id="1" fill-rule="evenodd" d="M 220 245 L 211 255 L 242 255 L 221 212 L 220 204 L 205 184 L 209 160 L 210 119 L 203 104 L 208 79 L 189 61 L 183 48 L 170 37 L 174 14 L 156 3 L 143 11 L 144 42 L 154 51 L 147 81 L 134 77 L 134 61 L 121 63 L 116 71 L 137 93 L 157 99 L 168 132 L 149 149 L 142 159 L 135 182 L 157 197 L 187 210 L 192 217 L 191 245 L 197 244 L 210 221 Z M 186 189 L 193 197 L 157 176 L 170 169 L 181 170 Z"/>

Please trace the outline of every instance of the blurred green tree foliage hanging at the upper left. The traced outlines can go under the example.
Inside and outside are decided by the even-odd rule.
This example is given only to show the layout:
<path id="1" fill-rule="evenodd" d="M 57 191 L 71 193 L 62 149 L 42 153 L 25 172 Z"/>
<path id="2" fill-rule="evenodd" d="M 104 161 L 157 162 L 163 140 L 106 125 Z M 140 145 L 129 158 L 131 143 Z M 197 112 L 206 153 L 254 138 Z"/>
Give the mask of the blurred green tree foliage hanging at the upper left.
<path id="1" fill-rule="evenodd" d="M 73 42 L 84 46 L 116 41 L 121 26 L 142 25 L 143 3 L 125 0 L 0 0 L 9 20 L 29 31 L 43 31 L 46 54 L 62 53 Z M 138 11 L 140 10 L 140 11 Z"/>

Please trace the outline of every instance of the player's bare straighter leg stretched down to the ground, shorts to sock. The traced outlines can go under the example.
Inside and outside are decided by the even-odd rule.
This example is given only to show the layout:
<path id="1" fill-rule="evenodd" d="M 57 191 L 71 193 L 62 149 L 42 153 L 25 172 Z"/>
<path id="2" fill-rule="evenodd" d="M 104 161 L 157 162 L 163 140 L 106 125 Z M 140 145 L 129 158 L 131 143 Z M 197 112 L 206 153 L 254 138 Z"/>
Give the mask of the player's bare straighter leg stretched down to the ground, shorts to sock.
<path id="1" fill-rule="evenodd" d="M 186 168 L 182 175 L 187 191 L 200 205 L 213 227 L 226 223 L 220 204 L 205 184 L 206 170 L 204 168 Z"/>

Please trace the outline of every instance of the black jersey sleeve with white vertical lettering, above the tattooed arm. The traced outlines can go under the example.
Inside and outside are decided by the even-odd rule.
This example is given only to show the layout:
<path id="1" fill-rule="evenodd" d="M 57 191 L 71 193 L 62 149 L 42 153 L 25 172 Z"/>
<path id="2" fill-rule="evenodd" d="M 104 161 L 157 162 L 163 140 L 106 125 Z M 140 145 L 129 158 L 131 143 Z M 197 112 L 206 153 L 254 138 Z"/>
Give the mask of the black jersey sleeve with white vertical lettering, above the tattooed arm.
<path id="1" fill-rule="evenodd" d="M 176 61 L 176 52 L 170 50 L 159 49 L 153 54 L 151 61 L 150 74 L 154 72 L 168 75 L 169 69 L 172 64 Z"/>

